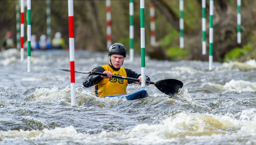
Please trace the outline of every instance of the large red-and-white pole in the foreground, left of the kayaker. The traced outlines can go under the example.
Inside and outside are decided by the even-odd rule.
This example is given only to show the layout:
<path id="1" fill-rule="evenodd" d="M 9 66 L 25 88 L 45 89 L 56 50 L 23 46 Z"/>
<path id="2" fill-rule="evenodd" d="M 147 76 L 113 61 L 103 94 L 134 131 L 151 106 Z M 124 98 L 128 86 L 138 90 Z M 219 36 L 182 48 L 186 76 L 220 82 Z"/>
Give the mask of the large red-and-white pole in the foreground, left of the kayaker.
<path id="1" fill-rule="evenodd" d="M 71 86 L 71 106 L 76 105 L 75 90 L 75 39 L 74 39 L 74 3 L 68 0 L 69 9 L 69 59 L 70 59 L 70 86 Z"/>

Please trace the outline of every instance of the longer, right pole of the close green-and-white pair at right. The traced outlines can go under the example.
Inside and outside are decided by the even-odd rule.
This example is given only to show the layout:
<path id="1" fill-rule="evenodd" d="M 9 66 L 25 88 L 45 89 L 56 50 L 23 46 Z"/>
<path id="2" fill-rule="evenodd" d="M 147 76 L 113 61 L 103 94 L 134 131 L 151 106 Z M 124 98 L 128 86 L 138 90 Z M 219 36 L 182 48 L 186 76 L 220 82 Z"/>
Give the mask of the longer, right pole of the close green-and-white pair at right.
<path id="1" fill-rule="evenodd" d="M 212 49 L 214 42 L 214 0 L 210 0 L 210 29 L 209 29 L 209 70 L 212 70 Z"/>

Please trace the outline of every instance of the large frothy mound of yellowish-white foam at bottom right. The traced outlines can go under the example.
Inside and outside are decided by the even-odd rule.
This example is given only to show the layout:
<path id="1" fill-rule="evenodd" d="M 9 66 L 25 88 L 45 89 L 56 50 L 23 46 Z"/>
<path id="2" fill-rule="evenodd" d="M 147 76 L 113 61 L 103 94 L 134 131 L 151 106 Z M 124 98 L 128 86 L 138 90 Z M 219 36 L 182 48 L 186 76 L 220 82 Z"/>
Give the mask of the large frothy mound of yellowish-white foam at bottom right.
<path id="1" fill-rule="evenodd" d="M 255 119 L 251 120 L 250 124 L 254 123 L 253 121 L 255 121 Z M 181 112 L 175 116 L 164 119 L 162 124 L 140 124 L 125 133 L 129 136 L 127 138 L 133 138 L 133 142 L 135 141 L 139 144 L 151 144 L 154 142 L 154 144 L 157 144 L 171 142 L 175 140 L 175 138 L 187 138 L 189 136 L 220 137 L 241 135 L 240 132 L 244 130 L 243 128 L 246 126 L 247 125 L 240 120 L 227 115 Z M 255 134 L 255 123 L 252 128 L 251 130 L 253 131 L 251 133 L 243 135 L 253 136 Z M 230 130 L 233 130 L 232 134 Z"/>

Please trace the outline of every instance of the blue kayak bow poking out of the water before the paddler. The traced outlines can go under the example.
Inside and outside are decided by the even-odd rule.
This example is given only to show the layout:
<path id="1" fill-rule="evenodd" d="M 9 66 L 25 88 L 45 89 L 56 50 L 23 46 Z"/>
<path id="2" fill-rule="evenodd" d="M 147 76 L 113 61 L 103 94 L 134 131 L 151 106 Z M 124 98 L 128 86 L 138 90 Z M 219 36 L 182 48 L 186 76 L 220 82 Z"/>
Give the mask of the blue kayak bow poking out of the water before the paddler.
<path id="1" fill-rule="evenodd" d="M 105 97 L 118 97 L 118 98 L 126 98 L 127 100 L 136 100 L 136 99 L 142 99 L 146 98 L 148 96 L 146 90 L 139 90 L 134 93 L 130 94 L 117 94 L 117 95 L 108 95 L 108 96 L 103 96 L 102 98 Z"/>

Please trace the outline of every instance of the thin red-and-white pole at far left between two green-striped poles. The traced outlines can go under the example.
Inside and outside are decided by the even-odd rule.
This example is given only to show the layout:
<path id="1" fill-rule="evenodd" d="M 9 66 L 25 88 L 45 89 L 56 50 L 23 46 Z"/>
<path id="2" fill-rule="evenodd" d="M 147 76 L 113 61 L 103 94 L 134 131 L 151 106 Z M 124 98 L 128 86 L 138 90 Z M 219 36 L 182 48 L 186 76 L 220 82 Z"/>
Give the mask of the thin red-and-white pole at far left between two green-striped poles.
<path id="1" fill-rule="evenodd" d="M 24 61 L 24 0 L 20 0 L 20 61 Z"/>

